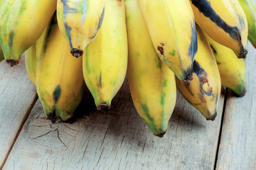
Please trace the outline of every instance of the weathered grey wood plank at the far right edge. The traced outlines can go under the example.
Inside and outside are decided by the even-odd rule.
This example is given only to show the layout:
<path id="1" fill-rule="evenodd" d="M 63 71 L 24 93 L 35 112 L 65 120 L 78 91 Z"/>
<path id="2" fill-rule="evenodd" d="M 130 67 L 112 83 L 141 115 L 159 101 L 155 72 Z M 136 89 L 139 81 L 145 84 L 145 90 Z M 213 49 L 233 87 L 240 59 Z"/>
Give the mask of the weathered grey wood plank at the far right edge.
<path id="1" fill-rule="evenodd" d="M 246 96 L 228 93 L 217 169 L 256 169 L 256 50 L 249 45 Z"/>

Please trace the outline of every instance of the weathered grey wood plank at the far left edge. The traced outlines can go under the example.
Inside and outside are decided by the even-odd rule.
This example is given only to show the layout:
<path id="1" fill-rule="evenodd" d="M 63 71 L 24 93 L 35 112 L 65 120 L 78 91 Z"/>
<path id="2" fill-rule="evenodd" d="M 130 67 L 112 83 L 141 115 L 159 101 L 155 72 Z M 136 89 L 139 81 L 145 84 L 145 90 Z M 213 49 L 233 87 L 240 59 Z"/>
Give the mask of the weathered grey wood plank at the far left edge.
<path id="1" fill-rule="evenodd" d="M 0 169 L 35 99 L 36 89 L 26 74 L 24 57 L 12 68 L 0 62 Z"/>

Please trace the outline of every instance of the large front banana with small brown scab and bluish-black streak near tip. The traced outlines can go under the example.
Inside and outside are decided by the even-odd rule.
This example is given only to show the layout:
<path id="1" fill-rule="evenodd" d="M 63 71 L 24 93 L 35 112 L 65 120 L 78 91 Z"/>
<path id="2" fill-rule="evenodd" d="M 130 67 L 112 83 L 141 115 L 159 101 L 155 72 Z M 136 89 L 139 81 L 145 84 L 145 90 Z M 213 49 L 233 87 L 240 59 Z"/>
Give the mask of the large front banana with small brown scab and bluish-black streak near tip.
<path id="1" fill-rule="evenodd" d="M 157 54 L 181 81 L 192 80 L 196 27 L 188 0 L 138 0 Z"/>

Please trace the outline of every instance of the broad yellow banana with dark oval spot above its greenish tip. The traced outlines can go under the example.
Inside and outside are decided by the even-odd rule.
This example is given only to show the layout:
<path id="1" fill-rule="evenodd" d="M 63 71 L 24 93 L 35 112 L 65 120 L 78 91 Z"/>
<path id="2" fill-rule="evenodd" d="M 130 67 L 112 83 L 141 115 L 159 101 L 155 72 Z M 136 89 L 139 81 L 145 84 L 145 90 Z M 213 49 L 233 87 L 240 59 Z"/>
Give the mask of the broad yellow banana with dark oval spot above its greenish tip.
<path id="1" fill-rule="evenodd" d="M 83 96 L 82 58 L 70 54 L 56 18 L 46 35 L 36 69 L 36 91 L 47 118 L 68 120 Z"/>

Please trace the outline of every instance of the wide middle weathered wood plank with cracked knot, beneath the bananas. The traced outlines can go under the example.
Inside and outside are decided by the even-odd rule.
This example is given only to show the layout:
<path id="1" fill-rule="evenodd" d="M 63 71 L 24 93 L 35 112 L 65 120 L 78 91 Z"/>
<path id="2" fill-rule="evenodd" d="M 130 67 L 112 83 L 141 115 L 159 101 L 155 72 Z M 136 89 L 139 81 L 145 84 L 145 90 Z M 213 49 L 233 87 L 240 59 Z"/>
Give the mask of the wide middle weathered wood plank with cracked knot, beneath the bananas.
<path id="1" fill-rule="evenodd" d="M 219 113 L 222 113 L 221 96 Z M 74 124 L 45 120 L 37 101 L 3 169 L 213 169 L 221 114 L 214 122 L 180 94 L 164 138 L 154 137 L 132 104 L 127 81 L 109 113 L 88 90 Z"/>

